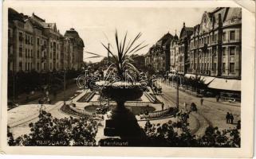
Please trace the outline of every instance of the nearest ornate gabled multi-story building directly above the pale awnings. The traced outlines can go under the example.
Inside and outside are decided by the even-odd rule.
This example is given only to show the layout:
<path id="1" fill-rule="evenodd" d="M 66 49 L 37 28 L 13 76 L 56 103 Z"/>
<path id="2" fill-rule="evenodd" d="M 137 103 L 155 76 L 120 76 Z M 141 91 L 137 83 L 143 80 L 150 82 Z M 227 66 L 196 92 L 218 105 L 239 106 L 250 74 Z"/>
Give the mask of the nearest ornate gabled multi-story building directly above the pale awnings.
<path id="1" fill-rule="evenodd" d="M 191 36 L 188 73 L 241 78 L 241 8 L 205 12 Z"/>

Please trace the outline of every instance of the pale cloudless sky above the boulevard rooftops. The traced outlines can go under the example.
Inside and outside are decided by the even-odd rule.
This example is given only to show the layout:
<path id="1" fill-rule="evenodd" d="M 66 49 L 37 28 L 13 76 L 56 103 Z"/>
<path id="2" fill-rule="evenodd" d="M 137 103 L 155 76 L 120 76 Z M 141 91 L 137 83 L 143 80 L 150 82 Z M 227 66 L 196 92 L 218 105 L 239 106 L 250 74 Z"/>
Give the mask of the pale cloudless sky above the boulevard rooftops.
<path id="1" fill-rule="evenodd" d="M 46 22 L 55 22 L 61 34 L 65 30 L 74 28 L 85 43 L 84 50 L 107 56 L 106 49 L 101 45 L 111 44 L 115 48 L 115 30 L 120 38 L 128 32 L 128 39 L 133 39 L 137 33 L 142 33 L 138 43 L 144 41 L 147 47 L 137 52 L 145 54 L 148 48 L 156 44 L 165 33 L 179 36 L 183 27 L 193 27 L 200 23 L 204 11 L 212 8 L 168 8 L 168 7 L 88 7 L 88 6 L 11 6 L 20 13 L 31 16 L 33 13 L 45 19 Z M 102 58 L 84 60 L 92 62 Z"/>

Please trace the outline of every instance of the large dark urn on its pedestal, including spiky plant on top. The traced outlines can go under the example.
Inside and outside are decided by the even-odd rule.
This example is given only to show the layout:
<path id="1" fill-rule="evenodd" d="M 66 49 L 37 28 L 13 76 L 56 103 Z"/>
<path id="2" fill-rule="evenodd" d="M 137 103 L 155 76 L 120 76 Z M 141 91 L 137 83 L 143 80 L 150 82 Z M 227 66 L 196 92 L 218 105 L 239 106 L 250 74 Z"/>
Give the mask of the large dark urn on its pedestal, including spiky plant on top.
<path id="1" fill-rule="evenodd" d="M 117 55 L 114 55 L 113 52 L 104 45 L 104 48 L 108 50 L 113 59 L 107 72 L 110 68 L 115 68 L 115 76 L 118 76 L 119 78 L 117 79 L 119 80 L 108 80 L 108 83 L 104 85 L 101 90 L 101 95 L 114 100 L 116 102 L 116 107 L 109 113 L 110 115 L 105 118 L 104 136 L 106 138 L 100 140 L 100 145 L 119 145 L 120 143 L 127 143 L 125 145 L 128 146 L 144 145 L 146 140 L 144 130 L 140 128 L 135 115 L 124 106 L 126 101 L 139 99 L 143 95 L 140 83 L 128 82 L 126 79 L 126 77 L 129 76 L 126 71 L 128 69 L 132 70 L 132 72 L 139 73 L 138 70 L 129 63 L 130 58 L 128 54 L 137 52 L 146 46 L 140 47 L 140 44 L 132 47 L 140 36 L 141 33 L 135 37 L 131 44 L 124 47 L 127 34 L 125 35 L 124 43 L 122 44 L 118 41 L 116 32 Z"/>

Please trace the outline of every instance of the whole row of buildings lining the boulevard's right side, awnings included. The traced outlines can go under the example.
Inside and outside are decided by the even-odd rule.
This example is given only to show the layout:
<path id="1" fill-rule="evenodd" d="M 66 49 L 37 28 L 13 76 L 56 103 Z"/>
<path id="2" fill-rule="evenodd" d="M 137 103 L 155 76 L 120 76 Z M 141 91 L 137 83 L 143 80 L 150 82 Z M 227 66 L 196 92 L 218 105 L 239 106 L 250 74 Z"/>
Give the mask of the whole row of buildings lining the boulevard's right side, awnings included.
<path id="1" fill-rule="evenodd" d="M 200 24 L 186 27 L 171 38 L 170 70 L 184 76 L 199 76 L 217 93 L 241 93 L 242 9 L 216 8 L 203 14 Z M 146 54 L 146 66 L 163 69 L 167 54 L 156 43 Z"/>

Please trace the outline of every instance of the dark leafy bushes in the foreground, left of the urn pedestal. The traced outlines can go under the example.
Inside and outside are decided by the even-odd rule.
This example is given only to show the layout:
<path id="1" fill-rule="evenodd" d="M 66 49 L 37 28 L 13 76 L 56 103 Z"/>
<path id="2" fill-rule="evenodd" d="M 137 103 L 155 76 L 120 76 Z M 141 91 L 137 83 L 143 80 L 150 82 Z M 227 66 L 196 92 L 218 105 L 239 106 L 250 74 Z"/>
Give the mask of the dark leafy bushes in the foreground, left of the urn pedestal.
<path id="1" fill-rule="evenodd" d="M 30 134 L 16 139 L 9 131 L 9 145 L 95 145 L 97 122 L 89 118 L 53 118 L 41 111 L 30 123 Z"/>

